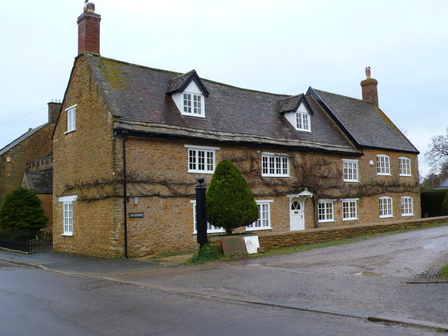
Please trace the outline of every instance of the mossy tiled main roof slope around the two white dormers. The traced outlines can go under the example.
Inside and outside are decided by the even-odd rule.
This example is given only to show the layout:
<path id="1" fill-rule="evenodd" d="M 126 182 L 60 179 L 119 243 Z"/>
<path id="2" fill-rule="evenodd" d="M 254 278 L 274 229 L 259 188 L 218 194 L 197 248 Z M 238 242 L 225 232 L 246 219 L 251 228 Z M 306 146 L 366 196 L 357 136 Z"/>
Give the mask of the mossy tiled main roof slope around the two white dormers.
<path id="1" fill-rule="evenodd" d="M 331 146 L 344 146 L 355 151 L 353 144 L 313 97 L 306 98 L 313 113 L 312 132 L 300 132 L 277 111 L 279 101 L 291 96 L 246 90 L 201 78 L 201 83 L 209 92 L 209 97 L 204 101 L 206 118 L 182 116 L 172 97 L 166 93 L 176 78 L 185 78 L 181 73 L 105 57 L 85 57 L 89 59 L 92 73 L 107 96 L 111 112 L 120 116 L 120 120 L 173 125 L 188 130 L 276 137 L 286 145 L 291 140 L 305 141 L 310 144 L 327 144 L 328 150 L 331 150 Z M 292 100 L 286 102 L 286 105 L 298 102 L 294 97 Z"/>

